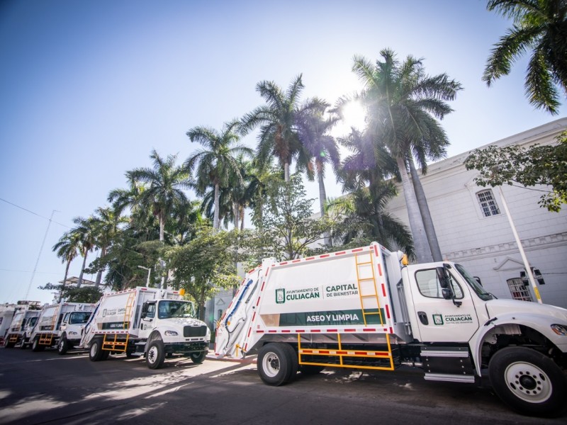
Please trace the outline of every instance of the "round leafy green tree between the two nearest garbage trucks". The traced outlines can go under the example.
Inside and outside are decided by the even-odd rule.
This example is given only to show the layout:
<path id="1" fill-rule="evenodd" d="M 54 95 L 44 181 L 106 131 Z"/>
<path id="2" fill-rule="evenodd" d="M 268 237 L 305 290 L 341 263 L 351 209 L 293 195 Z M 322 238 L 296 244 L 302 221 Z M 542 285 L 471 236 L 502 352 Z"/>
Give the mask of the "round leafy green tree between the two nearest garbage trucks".
<path id="1" fill-rule="evenodd" d="M 196 237 L 183 246 L 173 246 L 165 257 L 174 271 L 173 285 L 184 288 L 196 302 L 199 318 L 205 317 L 205 302 L 217 288 L 237 285 L 232 249 L 232 232 L 218 232 L 211 227 L 202 227 Z"/>

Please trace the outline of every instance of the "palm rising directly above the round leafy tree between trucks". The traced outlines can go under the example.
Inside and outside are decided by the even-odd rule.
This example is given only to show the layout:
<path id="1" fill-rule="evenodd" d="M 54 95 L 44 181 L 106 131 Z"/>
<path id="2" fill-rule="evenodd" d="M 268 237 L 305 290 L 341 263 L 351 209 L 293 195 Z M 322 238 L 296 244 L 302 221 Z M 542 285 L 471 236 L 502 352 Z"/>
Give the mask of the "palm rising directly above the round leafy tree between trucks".
<path id="1" fill-rule="evenodd" d="M 232 146 L 240 140 L 234 131 L 238 122 L 225 123 L 220 132 L 205 127 L 191 128 L 186 134 L 191 142 L 200 143 L 202 149 L 189 157 L 184 166 L 189 173 L 196 168 L 197 193 L 203 195 L 206 188 L 213 187 L 215 190 L 215 212 L 213 227 L 218 229 L 219 222 L 219 197 L 220 188 L 227 187 L 230 176 L 239 175 L 238 164 L 235 159 L 237 154 L 252 154 L 251 149 L 242 145 Z"/>

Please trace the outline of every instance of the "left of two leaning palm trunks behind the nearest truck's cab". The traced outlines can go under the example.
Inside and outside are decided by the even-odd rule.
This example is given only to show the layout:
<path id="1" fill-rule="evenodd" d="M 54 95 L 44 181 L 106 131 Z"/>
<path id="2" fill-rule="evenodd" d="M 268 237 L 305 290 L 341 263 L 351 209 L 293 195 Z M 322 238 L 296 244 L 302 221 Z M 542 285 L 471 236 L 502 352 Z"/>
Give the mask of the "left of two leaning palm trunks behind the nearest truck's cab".
<path id="1" fill-rule="evenodd" d="M 419 263 L 428 263 L 432 261 L 430 246 L 427 243 L 427 235 L 420 214 L 420 207 L 417 205 L 415 191 L 408 176 L 408 169 L 405 165 L 405 157 L 398 155 L 395 158 L 402 176 L 403 196 L 405 198 L 405 206 L 408 209 L 408 218 L 410 219 L 410 228 L 412 229 L 413 245 L 415 248 L 415 256 Z"/>

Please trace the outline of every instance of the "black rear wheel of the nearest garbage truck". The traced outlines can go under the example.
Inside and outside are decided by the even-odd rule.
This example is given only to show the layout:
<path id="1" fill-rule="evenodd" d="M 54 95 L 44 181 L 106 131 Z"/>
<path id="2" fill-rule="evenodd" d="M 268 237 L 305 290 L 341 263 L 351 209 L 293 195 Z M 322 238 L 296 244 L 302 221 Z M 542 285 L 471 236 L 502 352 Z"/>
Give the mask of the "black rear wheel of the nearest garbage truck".
<path id="1" fill-rule="evenodd" d="M 289 344 L 272 342 L 260 348 L 257 360 L 258 374 L 265 384 L 277 387 L 291 379 L 293 361 L 286 346 Z M 293 351 L 293 348 L 291 349 Z"/>

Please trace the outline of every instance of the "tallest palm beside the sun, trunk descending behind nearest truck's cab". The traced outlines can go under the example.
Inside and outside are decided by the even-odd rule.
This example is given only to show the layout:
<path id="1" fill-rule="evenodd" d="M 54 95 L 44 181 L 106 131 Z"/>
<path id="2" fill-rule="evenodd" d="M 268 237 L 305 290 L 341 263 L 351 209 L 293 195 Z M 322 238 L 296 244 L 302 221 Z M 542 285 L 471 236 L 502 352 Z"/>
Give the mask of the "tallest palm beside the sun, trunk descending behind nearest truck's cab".
<path id="1" fill-rule="evenodd" d="M 408 156 L 416 146 L 448 144 L 435 118 L 442 119 L 452 111 L 447 101 L 462 87 L 447 74 L 428 76 L 420 59 L 408 56 L 400 64 L 389 49 L 382 50 L 381 57 L 383 61 L 377 60 L 375 65 L 364 57 L 354 57 L 353 71 L 364 84 L 360 98 L 369 111 L 369 129 L 388 147 L 398 165 L 417 260 L 427 262 L 432 254 L 408 176 Z"/>

